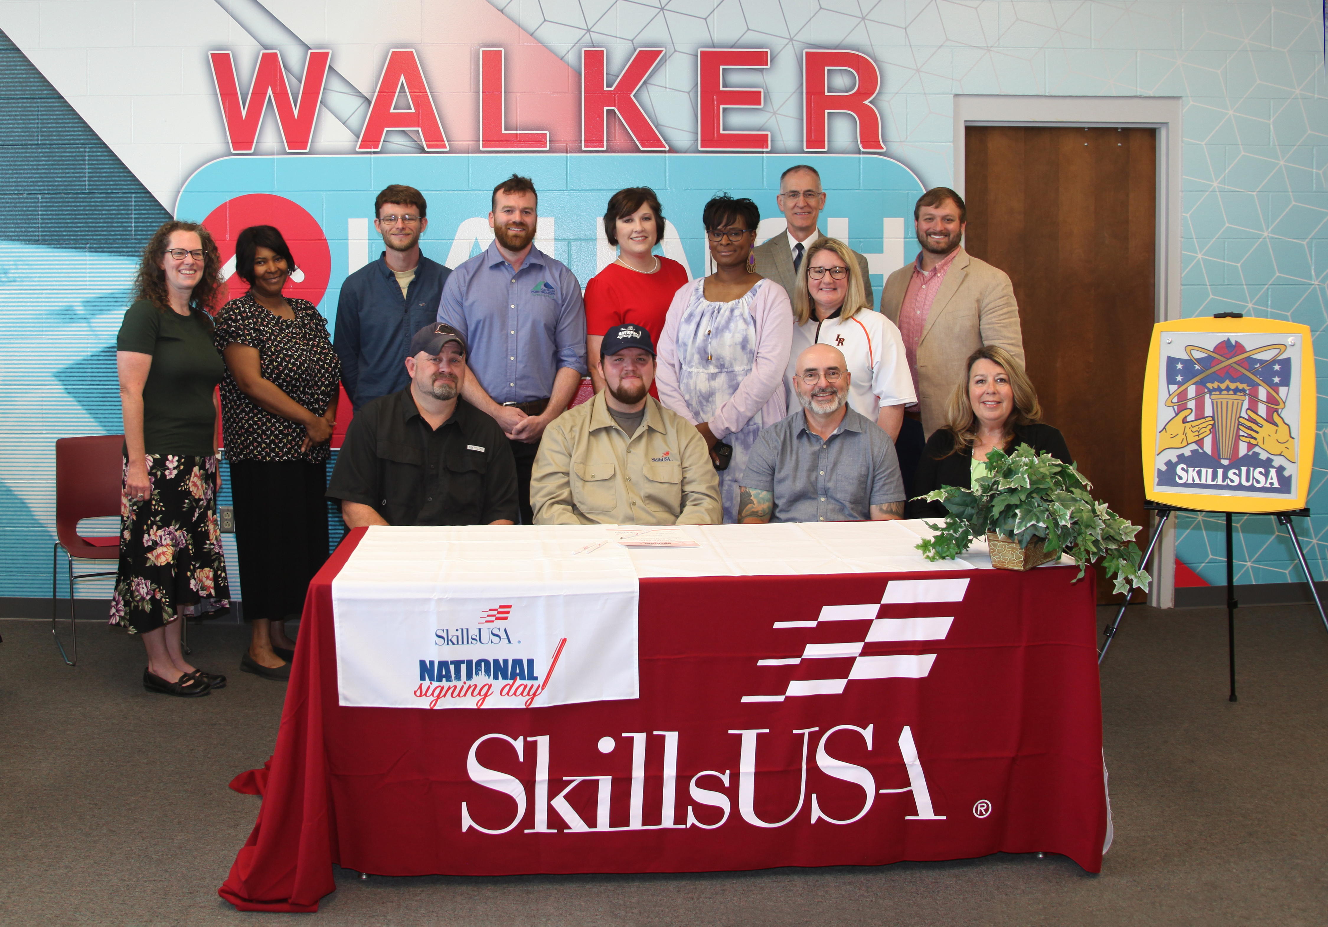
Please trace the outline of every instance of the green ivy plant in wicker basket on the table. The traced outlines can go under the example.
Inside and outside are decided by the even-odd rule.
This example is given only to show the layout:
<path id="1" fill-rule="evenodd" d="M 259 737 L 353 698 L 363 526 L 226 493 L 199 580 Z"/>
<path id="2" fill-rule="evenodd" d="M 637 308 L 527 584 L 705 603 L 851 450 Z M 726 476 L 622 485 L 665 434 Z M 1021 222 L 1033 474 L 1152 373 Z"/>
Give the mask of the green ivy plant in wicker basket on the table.
<path id="1" fill-rule="evenodd" d="M 927 560 L 952 560 L 985 534 L 993 566 L 1027 570 L 1064 552 L 1080 568 L 1076 581 L 1101 560 L 1114 591 L 1147 591 L 1150 577 L 1134 545 L 1138 525 L 1096 501 L 1073 464 L 1027 444 L 1013 454 L 989 451 L 987 464 L 972 488 L 942 487 L 923 496 L 950 512 L 943 525 L 928 523 L 938 533 L 918 545 Z"/>

